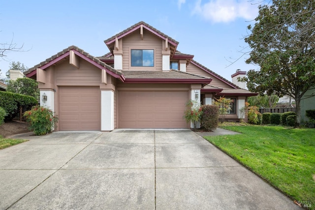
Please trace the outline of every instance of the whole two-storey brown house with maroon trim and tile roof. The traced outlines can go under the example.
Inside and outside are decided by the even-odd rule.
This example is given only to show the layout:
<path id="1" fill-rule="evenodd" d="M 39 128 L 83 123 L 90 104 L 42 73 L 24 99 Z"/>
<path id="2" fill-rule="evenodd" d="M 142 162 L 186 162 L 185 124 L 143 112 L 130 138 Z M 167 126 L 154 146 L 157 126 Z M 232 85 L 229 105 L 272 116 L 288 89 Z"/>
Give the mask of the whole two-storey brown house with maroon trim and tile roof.
<path id="1" fill-rule="evenodd" d="M 57 130 L 189 128 L 185 103 L 220 96 L 235 99 L 229 120 L 246 118 L 239 110 L 255 93 L 178 52 L 179 42 L 150 25 L 137 23 L 104 42 L 110 52 L 102 57 L 71 46 L 25 72 L 39 82 L 40 104 L 59 116 Z"/>

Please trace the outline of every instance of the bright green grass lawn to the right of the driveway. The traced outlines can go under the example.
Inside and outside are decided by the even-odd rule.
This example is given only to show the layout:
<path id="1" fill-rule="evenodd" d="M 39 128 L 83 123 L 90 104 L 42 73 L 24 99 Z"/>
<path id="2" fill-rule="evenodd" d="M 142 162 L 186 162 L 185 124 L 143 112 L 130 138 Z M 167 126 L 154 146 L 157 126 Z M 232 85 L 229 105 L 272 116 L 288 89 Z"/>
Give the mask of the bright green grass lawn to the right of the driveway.
<path id="1" fill-rule="evenodd" d="M 205 138 L 292 199 L 310 201 L 315 210 L 315 129 L 222 128 L 242 134 Z"/>

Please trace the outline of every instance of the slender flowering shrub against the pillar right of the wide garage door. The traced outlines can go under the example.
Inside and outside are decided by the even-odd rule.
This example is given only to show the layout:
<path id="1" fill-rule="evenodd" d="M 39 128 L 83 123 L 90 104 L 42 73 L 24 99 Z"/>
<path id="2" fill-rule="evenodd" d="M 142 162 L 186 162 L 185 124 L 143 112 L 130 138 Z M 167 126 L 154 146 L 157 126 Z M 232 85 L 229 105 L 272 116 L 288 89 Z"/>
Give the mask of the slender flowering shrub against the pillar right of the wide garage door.
<path id="1" fill-rule="evenodd" d="M 187 122 L 191 121 L 194 128 L 197 128 L 197 124 L 200 121 L 202 115 L 202 110 L 200 103 L 195 100 L 189 100 L 186 103 L 185 115 L 184 118 Z"/>

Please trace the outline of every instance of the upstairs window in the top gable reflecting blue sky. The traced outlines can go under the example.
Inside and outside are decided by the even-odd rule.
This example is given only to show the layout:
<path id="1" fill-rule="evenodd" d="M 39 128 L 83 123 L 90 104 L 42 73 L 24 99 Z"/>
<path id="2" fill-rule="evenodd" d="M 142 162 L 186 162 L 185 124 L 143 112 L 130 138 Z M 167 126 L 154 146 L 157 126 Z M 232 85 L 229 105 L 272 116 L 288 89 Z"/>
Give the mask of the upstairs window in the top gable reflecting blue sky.
<path id="1" fill-rule="evenodd" d="M 131 50 L 131 66 L 154 66 L 154 50 Z"/>

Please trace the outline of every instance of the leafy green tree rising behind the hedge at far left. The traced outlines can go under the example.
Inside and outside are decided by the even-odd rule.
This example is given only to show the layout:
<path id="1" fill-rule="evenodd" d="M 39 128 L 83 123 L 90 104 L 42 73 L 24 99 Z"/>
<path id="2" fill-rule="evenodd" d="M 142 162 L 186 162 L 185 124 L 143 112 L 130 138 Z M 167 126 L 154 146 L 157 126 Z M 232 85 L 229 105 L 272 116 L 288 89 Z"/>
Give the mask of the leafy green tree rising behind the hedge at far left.
<path id="1" fill-rule="evenodd" d="M 24 77 L 10 80 L 6 91 L 29 95 L 39 100 L 38 83 L 31 78 Z"/>

